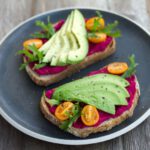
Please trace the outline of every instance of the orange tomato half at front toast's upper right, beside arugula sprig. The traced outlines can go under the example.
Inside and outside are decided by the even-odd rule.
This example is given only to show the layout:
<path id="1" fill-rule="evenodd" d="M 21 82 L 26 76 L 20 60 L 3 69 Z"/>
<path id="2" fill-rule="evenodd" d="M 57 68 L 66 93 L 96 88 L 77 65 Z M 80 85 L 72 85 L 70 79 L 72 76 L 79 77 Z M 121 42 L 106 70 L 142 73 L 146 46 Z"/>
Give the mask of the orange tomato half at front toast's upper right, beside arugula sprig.
<path id="1" fill-rule="evenodd" d="M 111 74 L 122 74 L 128 70 L 128 65 L 125 62 L 115 62 L 109 64 L 107 70 Z"/>

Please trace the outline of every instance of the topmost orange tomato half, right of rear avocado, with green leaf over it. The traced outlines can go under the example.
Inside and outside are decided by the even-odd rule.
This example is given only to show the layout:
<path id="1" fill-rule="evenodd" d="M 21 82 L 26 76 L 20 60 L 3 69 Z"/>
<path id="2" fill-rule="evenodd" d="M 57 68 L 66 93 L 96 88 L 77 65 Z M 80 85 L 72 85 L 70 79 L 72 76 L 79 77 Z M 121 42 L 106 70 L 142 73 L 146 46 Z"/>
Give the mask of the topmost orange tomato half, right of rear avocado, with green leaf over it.
<path id="1" fill-rule="evenodd" d="M 94 25 L 94 21 L 95 20 L 98 20 L 98 22 L 100 24 L 100 26 L 97 27 L 96 30 L 98 30 L 98 29 L 104 29 L 104 27 L 105 27 L 105 21 L 104 21 L 104 19 L 103 18 L 99 18 L 99 17 L 92 17 L 92 18 L 90 18 L 90 19 L 88 19 L 86 21 L 86 28 L 87 28 L 87 30 L 89 30 L 89 31 L 93 30 L 93 25 Z"/>

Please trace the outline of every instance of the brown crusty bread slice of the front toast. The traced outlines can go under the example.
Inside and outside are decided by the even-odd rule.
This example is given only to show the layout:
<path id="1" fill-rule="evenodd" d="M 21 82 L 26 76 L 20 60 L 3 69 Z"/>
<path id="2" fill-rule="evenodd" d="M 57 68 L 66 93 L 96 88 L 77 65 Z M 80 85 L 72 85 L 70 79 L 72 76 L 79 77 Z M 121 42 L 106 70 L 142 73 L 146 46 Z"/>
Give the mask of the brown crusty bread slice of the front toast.
<path id="1" fill-rule="evenodd" d="M 104 121 L 102 124 L 100 124 L 97 127 L 86 127 L 83 129 L 70 127 L 67 130 L 67 132 L 69 132 L 75 136 L 84 138 L 84 137 L 89 136 L 91 133 L 97 133 L 97 132 L 103 132 L 103 131 L 110 130 L 114 126 L 119 125 L 121 122 L 123 122 L 127 118 L 131 117 L 133 115 L 133 111 L 137 105 L 137 102 L 138 102 L 138 99 L 140 96 L 139 83 L 138 83 L 137 78 L 135 80 L 136 80 L 136 93 L 134 96 L 133 104 L 129 110 L 126 110 L 125 112 L 122 113 L 122 115 L 120 115 L 116 118 L 112 118 L 112 119 Z M 49 108 L 47 107 L 45 100 L 46 100 L 46 97 L 42 96 L 41 102 L 40 102 L 40 108 L 41 108 L 42 113 L 44 114 L 44 117 L 47 120 L 49 120 L 51 123 L 55 124 L 56 126 L 59 126 L 61 122 L 49 111 Z"/>

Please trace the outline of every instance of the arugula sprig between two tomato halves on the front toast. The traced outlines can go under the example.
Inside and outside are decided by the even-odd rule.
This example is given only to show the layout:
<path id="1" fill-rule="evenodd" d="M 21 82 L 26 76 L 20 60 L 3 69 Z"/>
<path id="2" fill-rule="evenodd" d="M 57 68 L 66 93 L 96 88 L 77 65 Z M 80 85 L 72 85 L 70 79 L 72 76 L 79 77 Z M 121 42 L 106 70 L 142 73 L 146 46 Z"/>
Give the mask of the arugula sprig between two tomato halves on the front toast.
<path id="1" fill-rule="evenodd" d="M 69 115 L 69 119 L 66 121 L 63 121 L 63 123 L 59 126 L 63 130 L 67 130 L 69 127 L 72 126 L 72 124 L 81 116 L 81 107 L 79 103 L 76 103 L 74 105 L 74 108 L 72 110 L 72 115 Z"/>

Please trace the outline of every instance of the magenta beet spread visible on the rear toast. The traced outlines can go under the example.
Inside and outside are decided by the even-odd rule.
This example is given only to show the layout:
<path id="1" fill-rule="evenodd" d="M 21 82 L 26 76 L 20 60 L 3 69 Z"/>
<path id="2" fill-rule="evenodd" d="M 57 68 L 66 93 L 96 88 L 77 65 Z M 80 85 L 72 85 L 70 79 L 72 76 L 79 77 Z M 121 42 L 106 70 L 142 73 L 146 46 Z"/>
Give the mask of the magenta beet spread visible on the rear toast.
<path id="1" fill-rule="evenodd" d="M 55 25 L 55 30 L 58 31 L 62 25 L 64 24 L 64 20 L 59 21 L 56 25 Z M 42 39 L 43 43 L 45 43 L 47 41 L 47 39 Z M 109 43 L 112 41 L 112 37 L 107 37 L 106 41 L 98 43 L 98 44 L 93 44 L 89 42 L 89 52 L 88 52 L 88 56 L 92 55 L 96 52 L 102 52 L 105 50 L 105 48 L 107 47 L 107 45 L 109 45 Z M 34 65 L 36 64 L 36 62 L 30 63 L 29 66 L 32 69 L 34 67 Z M 44 66 L 40 69 L 36 69 L 34 70 L 37 74 L 39 75 L 49 75 L 49 74 L 56 74 L 56 73 L 60 73 L 62 71 L 64 71 L 67 68 L 67 66 Z"/>

